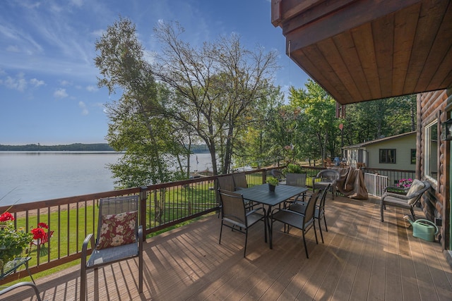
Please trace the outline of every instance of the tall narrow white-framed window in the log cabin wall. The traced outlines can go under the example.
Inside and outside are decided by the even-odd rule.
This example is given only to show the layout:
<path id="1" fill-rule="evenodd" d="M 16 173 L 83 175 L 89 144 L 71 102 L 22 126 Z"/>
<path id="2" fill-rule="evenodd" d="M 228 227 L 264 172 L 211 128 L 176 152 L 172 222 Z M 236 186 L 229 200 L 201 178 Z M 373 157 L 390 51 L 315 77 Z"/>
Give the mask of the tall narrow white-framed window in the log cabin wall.
<path id="1" fill-rule="evenodd" d="M 424 128 L 424 172 L 436 181 L 438 176 L 438 121 Z"/>

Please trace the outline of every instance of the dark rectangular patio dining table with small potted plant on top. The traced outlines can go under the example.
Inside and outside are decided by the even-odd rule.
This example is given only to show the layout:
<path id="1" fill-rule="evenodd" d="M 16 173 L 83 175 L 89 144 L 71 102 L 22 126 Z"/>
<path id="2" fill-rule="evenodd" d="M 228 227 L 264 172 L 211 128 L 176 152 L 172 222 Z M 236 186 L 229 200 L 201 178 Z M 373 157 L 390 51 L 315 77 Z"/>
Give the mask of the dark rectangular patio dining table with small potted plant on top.
<path id="1" fill-rule="evenodd" d="M 267 214 L 266 214 L 266 226 L 268 227 L 268 238 L 270 249 L 272 249 L 272 237 L 273 233 L 271 233 L 270 227 L 270 214 L 272 207 L 278 206 L 281 203 L 285 202 L 285 200 L 290 199 L 291 197 L 297 197 L 301 195 L 303 192 L 306 192 L 308 189 L 305 187 L 297 187 L 297 186 L 289 186 L 289 185 L 278 185 L 275 187 L 275 191 L 270 191 L 268 189 L 268 184 L 256 185 L 250 188 L 244 188 L 238 190 L 239 194 L 241 194 L 246 201 L 256 202 L 258 204 L 263 204 L 266 206 Z"/>

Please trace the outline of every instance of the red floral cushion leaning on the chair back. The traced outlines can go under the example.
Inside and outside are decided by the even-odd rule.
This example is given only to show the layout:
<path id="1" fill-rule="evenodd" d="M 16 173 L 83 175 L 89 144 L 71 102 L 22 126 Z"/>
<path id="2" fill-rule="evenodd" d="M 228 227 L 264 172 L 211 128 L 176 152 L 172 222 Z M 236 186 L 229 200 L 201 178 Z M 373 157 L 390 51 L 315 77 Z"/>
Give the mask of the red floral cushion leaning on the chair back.
<path id="1" fill-rule="evenodd" d="M 136 242 L 135 226 L 137 217 L 138 211 L 102 216 L 100 238 L 96 249 L 100 250 Z"/>

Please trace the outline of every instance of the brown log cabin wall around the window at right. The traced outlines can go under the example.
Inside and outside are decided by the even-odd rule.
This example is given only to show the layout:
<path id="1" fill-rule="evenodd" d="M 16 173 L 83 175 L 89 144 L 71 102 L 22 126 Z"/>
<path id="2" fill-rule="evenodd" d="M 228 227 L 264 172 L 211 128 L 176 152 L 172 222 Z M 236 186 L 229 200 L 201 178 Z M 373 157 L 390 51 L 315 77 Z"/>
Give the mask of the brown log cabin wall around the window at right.
<path id="1" fill-rule="evenodd" d="M 449 143 L 443 141 L 441 137 L 441 124 L 444 123 L 450 116 L 452 90 L 439 90 L 433 92 L 424 92 L 417 94 L 417 178 L 422 180 L 429 180 L 432 184 L 432 189 L 424 194 L 421 199 L 422 210 L 425 216 L 430 221 L 434 219 L 442 219 L 442 226 L 440 227 L 439 240 L 443 249 L 446 249 L 449 243 L 449 178 L 448 168 L 450 162 Z M 449 104 L 448 104 L 449 103 Z M 425 127 L 430 123 L 438 121 L 438 147 L 437 152 L 437 166 L 438 171 L 436 176 L 436 183 L 431 178 L 426 176 L 424 152 L 425 144 Z M 433 152 L 433 150 L 432 150 Z"/>

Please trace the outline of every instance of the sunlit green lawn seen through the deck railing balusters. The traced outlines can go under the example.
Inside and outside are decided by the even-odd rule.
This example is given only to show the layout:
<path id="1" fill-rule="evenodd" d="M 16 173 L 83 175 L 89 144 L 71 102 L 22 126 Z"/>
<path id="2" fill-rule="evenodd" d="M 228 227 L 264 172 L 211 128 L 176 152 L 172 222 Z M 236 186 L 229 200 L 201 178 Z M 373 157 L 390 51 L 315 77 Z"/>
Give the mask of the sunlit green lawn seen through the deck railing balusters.
<path id="1" fill-rule="evenodd" d="M 152 209 L 149 209 L 149 206 L 147 207 L 147 227 L 159 226 L 169 221 L 177 221 L 177 219 L 180 219 L 181 217 L 189 216 L 190 214 L 194 214 L 197 211 L 202 211 L 206 207 L 210 207 L 213 204 L 216 204 L 215 192 L 213 190 L 210 190 L 208 188 L 208 185 L 195 185 L 186 188 L 177 187 L 174 189 L 162 190 L 160 192 L 157 192 L 156 195 L 150 195 L 149 197 L 153 200 L 153 202 L 148 199 L 148 205 L 153 204 L 153 207 Z M 157 197 L 157 199 L 159 200 L 157 205 L 155 204 L 155 199 L 153 199 L 153 197 Z M 163 205 L 163 207 L 161 208 L 163 213 L 160 214 L 160 219 L 154 219 L 154 221 L 152 221 L 150 224 L 149 216 L 155 216 L 155 206 L 160 207 L 160 204 Z M 86 235 L 88 235 L 89 233 L 96 233 L 97 231 L 98 214 L 99 212 L 96 205 L 87 205 L 79 207 L 78 209 L 64 209 L 59 212 L 52 212 L 50 214 L 47 213 L 37 215 L 30 213 L 28 219 L 26 217 L 18 217 L 16 219 L 17 228 L 23 227 L 24 229 L 28 229 L 28 231 L 30 231 L 31 228 L 35 228 L 37 226 L 37 223 L 44 222 L 48 224 L 49 230 L 54 231 L 52 238 L 49 239 L 50 252 L 48 252 L 48 244 L 41 246 L 39 252 L 37 246 L 32 246 L 31 250 L 28 250 L 28 254 L 25 254 L 24 252 L 23 256 L 32 257 L 32 259 L 30 259 L 29 266 L 36 266 L 38 260 L 40 264 L 42 264 L 54 259 L 66 257 L 69 254 L 81 252 L 83 240 L 85 239 Z M 165 228 L 161 231 L 151 233 L 150 235 L 147 235 L 146 238 L 151 238 L 155 235 L 164 233 L 174 228 L 182 227 L 188 223 L 197 221 L 198 219 L 202 218 L 203 217 L 201 216 L 197 219 L 179 223 L 177 225 Z M 62 269 L 67 269 L 71 266 L 79 264 L 80 259 L 74 260 L 72 262 L 56 266 L 52 269 L 46 269 L 45 271 L 35 273 L 32 276 L 35 279 L 41 278 L 49 274 L 54 274 L 55 272 L 61 271 Z M 19 271 L 22 270 L 25 270 L 25 266 L 19 269 Z M 26 277 L 28 276 L 8 283 L 8 285 L 12 285 L 20 281 L 27 281 Z"/>

